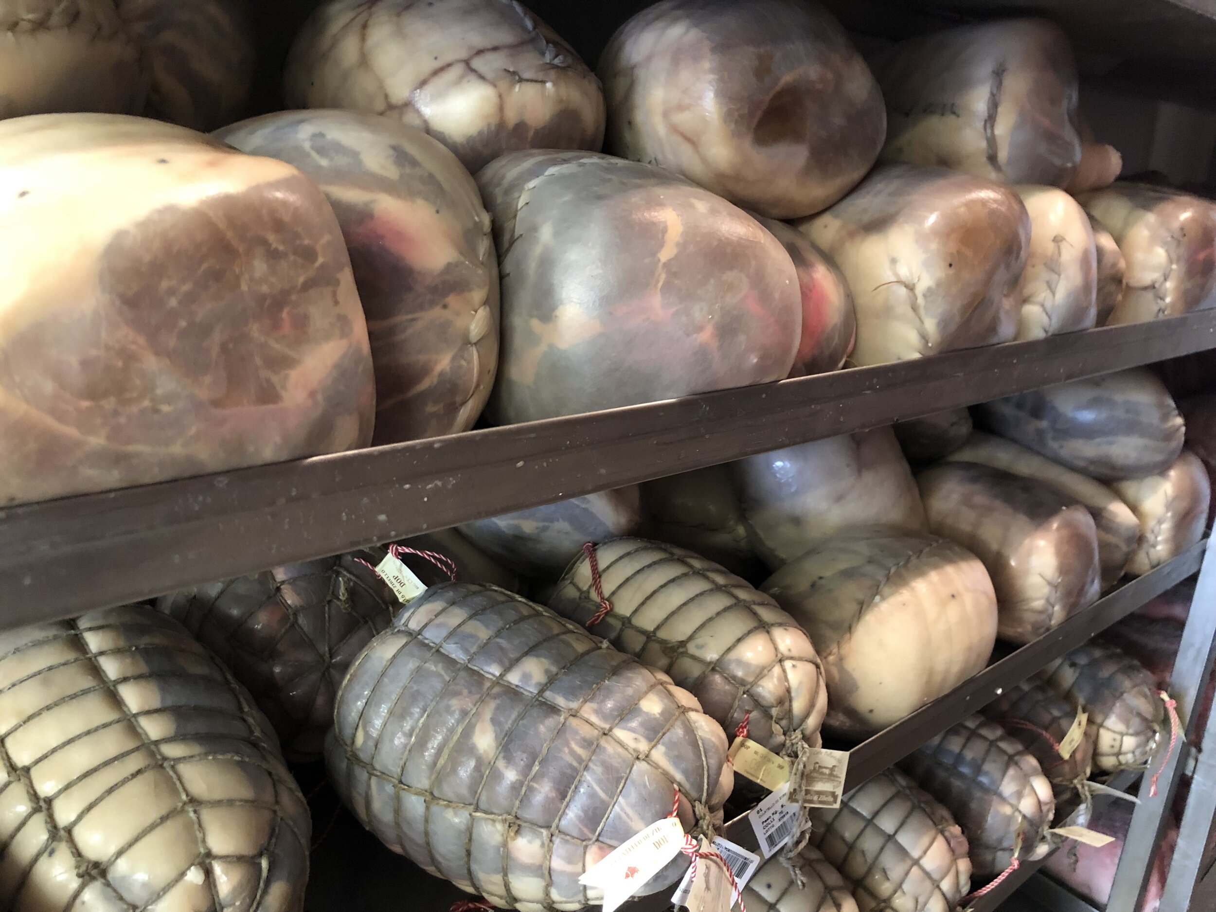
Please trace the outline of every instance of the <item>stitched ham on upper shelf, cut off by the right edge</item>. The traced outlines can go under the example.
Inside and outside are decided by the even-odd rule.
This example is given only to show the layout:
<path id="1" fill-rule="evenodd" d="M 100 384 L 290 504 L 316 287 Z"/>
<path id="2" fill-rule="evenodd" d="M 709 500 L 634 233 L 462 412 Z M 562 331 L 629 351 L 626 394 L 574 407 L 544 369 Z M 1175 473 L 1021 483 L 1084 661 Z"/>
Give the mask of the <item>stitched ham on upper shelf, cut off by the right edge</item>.
<path id="1" fill-rule="evenodd" d="M 1216 306 L 1216 203 L 1170 187 L 1118 181 L 1082 193 L 1126 263 L 1126 291 L 1108 326 Z"/>

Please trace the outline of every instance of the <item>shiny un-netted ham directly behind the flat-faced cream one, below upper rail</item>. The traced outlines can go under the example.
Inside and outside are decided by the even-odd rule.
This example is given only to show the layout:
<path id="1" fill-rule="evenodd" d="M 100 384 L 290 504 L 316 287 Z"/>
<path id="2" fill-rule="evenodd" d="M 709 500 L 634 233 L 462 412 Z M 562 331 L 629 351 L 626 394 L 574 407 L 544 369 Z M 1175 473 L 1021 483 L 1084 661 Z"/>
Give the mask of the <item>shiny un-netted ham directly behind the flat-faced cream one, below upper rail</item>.
<path id="1" fill-rule="evenodd" d="M 890 428 L 749 456 L 731 469 L 751 544 L 773 570 L 844 529 L 925 530 L 916 479 Z"/>

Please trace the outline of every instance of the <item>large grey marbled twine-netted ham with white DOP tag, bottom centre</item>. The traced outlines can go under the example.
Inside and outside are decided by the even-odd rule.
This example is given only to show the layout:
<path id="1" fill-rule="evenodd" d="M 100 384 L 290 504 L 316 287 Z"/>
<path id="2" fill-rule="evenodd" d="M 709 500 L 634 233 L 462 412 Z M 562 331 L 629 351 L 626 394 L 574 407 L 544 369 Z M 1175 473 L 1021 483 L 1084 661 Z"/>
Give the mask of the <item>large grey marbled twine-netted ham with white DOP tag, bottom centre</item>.
<path id="1" fill-rule="evenodd" d="M 505 590 L 434 586 L 351 665 L 326 761 L 388 848 L 491 905 L 602 901 L 579 877 L 671 814 L 721 821 L 726 736 L 696 698 Z M 674 884 L 676 858 L 648 891 Z"/>

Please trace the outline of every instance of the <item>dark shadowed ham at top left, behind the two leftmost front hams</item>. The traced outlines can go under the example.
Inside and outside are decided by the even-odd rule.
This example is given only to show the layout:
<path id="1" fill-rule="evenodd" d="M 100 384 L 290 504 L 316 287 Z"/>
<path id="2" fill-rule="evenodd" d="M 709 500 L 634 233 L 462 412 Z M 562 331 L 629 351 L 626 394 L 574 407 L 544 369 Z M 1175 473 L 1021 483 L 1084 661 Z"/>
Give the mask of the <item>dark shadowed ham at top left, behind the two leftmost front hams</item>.
<path id="1" fill-rule="evenodd" d="M 117 0 L 151 77 L 146 117 L 214 130 L 244 109 L 253 23 L 244 0 Z"/>

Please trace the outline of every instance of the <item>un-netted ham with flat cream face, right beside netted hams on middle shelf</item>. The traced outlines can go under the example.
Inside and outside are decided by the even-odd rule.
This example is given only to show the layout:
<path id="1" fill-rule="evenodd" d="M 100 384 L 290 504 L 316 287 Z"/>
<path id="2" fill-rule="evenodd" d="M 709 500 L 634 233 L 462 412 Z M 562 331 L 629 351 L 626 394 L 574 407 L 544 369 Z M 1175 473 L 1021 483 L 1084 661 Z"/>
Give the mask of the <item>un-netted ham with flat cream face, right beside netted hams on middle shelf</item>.
<path id="1" fill-rule="evenodd" d="M 874 734 L 979 674 L 996 642 L 984 565 L 931 535 L 838 533 L 761 591 L 815 643 L 828 688 L 824 727 L 845 738 Z"/>

